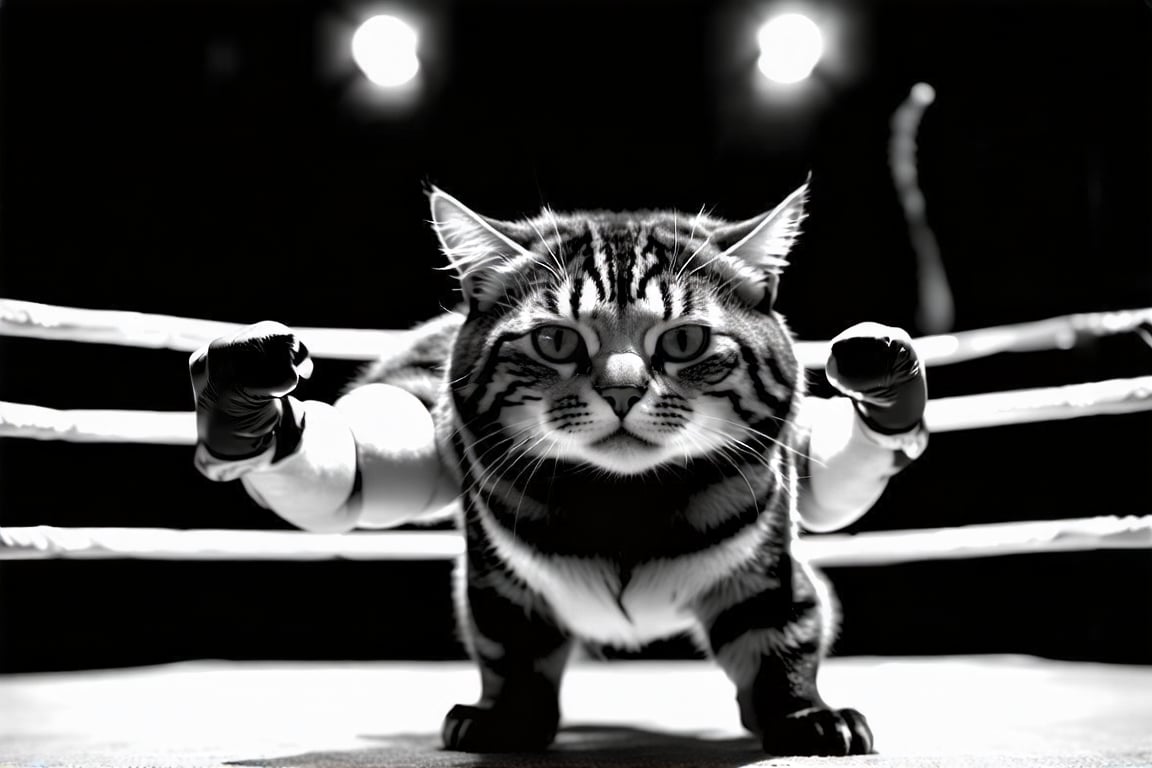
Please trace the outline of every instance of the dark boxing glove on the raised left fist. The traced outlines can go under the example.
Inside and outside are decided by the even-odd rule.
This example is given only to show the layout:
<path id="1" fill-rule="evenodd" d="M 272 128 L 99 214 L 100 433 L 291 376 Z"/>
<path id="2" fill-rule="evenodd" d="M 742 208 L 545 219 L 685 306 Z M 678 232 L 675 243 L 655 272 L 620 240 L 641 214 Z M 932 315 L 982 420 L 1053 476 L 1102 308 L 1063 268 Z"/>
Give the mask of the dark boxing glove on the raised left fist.
<path id="1" fill-rule="evenodd" d="M 300 415 L 287 395 L 312 372 L 308 349 L 285 325 L 265 320 L 217 339 L 188 362 L 199 442 L 222 461 L 251 458 L 275 441 L 275 457 L 300 443 Z"/>

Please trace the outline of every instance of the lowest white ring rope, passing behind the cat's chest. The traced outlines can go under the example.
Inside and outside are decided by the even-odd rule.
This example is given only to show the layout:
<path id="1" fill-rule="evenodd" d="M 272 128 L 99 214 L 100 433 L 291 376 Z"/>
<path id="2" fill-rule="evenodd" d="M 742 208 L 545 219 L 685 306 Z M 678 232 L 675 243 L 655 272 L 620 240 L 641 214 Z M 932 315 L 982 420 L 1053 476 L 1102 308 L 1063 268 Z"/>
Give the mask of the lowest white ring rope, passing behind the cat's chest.
<path id="1" fill-rule="evenodd" d="M 923 560 L 1039 552 L 1152 548 L 1152 516 L 996 523 L 926 531 L 804 537 L 797 550 L 817 565 L 886 565 Z M 295 531 L 166 529 L 0 529 L 0 560 L 197 561 L 450 560 L 455 531 L 323 534 Z"/>

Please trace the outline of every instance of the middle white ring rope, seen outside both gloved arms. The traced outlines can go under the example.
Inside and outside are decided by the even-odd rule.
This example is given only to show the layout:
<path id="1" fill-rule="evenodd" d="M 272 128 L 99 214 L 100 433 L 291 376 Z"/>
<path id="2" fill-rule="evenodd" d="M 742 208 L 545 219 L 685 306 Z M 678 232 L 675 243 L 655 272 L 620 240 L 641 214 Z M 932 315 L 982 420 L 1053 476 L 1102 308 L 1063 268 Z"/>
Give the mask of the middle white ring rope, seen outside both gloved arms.
<path id="1" fill-rule="evenodd" d="M 939 433 L 1146 410 L 1152 410 L 1152 377 L 940 397 L 929 401 L 924 421 Z M 180 411 L 59 411 L 0 402 L 0 438 L 192 446 L 196 416 Z"/>

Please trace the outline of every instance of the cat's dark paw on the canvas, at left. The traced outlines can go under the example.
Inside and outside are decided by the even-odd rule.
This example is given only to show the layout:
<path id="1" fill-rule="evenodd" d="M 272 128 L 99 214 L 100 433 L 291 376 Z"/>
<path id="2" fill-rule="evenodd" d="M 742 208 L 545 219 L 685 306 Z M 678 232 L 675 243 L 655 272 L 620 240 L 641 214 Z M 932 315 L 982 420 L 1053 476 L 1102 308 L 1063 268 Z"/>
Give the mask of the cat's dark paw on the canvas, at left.
<path id="1" fill-rule="evenodd" d="M 457 704 L 444 718 L 444 747 L 457 752 L 539 752 L 556 737 L 559 713 Z"/>

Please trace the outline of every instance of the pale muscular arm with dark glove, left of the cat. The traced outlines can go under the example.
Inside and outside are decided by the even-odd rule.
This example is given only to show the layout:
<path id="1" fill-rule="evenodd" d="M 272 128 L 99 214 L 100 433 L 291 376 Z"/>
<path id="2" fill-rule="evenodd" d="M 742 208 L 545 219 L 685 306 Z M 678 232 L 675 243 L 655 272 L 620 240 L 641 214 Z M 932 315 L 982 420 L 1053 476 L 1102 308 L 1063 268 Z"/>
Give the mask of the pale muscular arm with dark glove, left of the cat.
<path id="1" fill-rule="evenodd" d="M 434 324 L 435 360 L 453 330 L 445 320 Z M 196 467 L 211 480 L 242 480 L 256 501 L 297 527 L 391 527 L 429 516 L 456 495 L 432 416 L 406 389 L 366 383 L 334 405 L 291 397 L 312 362 L 280 322 L 213 340 L 188 366 Z M 423 378 L 437 381 L 426 371 Z"/>

